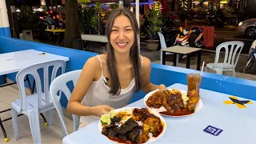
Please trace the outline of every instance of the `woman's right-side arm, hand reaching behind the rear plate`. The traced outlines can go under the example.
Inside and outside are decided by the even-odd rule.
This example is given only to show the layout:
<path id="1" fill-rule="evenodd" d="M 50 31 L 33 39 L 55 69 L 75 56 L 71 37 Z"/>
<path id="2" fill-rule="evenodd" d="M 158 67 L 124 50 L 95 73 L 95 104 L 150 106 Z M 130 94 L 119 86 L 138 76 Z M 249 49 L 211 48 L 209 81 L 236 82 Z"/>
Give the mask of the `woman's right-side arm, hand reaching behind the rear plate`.
<path id="1" fill-rule="evenodd" d="M 164 85 L 154 85 L 150 82 L 150 73 L 151 73 L 151 62 L 149 58 L 143 57 L 143 66 L 142 66 L 142 91 L 149 93 L 153 90 L 163 90 L 166 89 Z"/>

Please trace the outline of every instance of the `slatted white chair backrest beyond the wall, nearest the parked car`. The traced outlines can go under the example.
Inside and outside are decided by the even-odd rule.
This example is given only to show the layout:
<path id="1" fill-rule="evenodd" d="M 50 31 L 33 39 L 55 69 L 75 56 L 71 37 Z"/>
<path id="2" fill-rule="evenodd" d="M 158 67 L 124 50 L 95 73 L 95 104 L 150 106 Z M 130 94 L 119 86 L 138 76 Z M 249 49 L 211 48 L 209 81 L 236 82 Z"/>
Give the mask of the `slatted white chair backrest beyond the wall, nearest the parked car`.
<path id="1" fill-rule="evenodd" d="M 240 42 L 240 41 L 223 42 L 219 44 L 216 48 L 214 67 L 218 64 L 220 51 L 224 47 L 225 57 L 223 62 L 224 63 L 223 68 L 225 68 L 226 64 L 230 64 L 234 68 L 238 63 L 238 58 L 244 45 L 245 45 L 244 42 Z M 231 46 L 230 50 L 229 50 L 229 46 Z M 236 57 L 237 54 L 238 56 Z"/>

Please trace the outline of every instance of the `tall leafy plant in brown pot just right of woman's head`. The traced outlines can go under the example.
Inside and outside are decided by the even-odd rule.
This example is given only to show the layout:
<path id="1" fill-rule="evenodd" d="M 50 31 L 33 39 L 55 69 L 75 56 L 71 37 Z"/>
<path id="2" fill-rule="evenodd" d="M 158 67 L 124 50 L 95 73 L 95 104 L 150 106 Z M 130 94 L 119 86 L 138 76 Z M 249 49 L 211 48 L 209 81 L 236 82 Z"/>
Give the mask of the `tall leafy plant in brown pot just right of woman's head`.
<path id="1" fill-rule="evenodd" d="M 158 10 L 148 10 L 146 14 L 146 20 L 148 21 L 148 26 L 146 29 L 149 35 L 149 40 L 146 40 L 146 47 L 149 50 L 158 49 L 158 32 L 161 32 L 162 19 L 158 13 Z"/>

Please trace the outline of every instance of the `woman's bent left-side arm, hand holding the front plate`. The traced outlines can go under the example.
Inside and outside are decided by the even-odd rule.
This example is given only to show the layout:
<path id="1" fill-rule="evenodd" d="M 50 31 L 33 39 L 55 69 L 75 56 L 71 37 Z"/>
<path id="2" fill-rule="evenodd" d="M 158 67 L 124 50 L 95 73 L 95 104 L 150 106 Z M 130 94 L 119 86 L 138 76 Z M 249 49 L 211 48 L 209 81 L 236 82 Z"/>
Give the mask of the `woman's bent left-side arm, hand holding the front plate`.
<path id="1" fill-rule="evenodd" d="M 100 63 L 98 58 L 89 58 L 82 68 L 80 78 L 78 79 L 77 85 L 70 96 L 70 100 L 67 105 L 67 110 L 71 114 L 79 116 L 96 115 L 100 116 L 111 110 L 110 106 L 84 106 L 81 104 L 82 99 L 86 95 L 87 90 L 90 88 L 91 83 L 96 78 L 98 72 L 101 71 Z"/>

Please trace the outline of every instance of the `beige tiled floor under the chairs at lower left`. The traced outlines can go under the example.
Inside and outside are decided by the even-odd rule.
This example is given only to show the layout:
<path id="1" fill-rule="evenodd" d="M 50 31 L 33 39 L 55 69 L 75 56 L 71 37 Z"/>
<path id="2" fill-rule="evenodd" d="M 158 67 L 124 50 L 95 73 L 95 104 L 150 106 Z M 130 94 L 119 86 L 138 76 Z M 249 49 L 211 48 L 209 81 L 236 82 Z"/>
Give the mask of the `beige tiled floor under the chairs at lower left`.
<path id="1" fill-rule="evenodd" d="M 0 88 L 0 111 L 10 109 L 11 102 L 14 102 L 15 99 L 19 98 L 18 90 L 13 86 L 6 86 Z M 46 115 L 46 114 L 45 114 Z M 10 111 L 0 114 L 2 119 L 10 118 Z M 64 118 L 66 123 L 67 130 L 69 133 L 73 131 L 73 121 L 70 118 Z M 2 130 L 0 130 L 0 143 L 34 143 L 32 139 L 32 134 L 30 132 L 30 123 L 26 115 L 18 117 L 18 128 L 20 139 L 18 141 L 14 138 L 14 129 L 12 126 L 12 121 L 3 122 L 3 126 L 6 129 L 7 137 L 9 142 L 4 141 Z M 41 138 L 42 143 L 62 143 L 62 129 L 58 123 L 58 114 L 54 111 L 54 125 L 45 126 L 40 117 L 40 129 L 41 129 Z"/>

